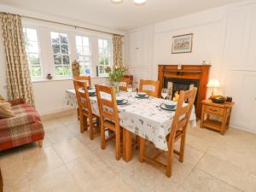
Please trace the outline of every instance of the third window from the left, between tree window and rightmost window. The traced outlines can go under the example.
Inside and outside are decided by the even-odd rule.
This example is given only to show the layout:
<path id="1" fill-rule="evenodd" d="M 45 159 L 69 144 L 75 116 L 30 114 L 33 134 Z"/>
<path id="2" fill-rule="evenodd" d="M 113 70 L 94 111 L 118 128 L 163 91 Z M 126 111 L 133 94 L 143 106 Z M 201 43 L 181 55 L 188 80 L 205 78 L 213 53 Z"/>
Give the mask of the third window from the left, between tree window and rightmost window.
<path id="1" fill-rule="evenodd" d="M 76 36 L 76 49 L 79 57 L 80 73 L 82 75 L 90 75 L 91 51 L 89 38 Z"/>

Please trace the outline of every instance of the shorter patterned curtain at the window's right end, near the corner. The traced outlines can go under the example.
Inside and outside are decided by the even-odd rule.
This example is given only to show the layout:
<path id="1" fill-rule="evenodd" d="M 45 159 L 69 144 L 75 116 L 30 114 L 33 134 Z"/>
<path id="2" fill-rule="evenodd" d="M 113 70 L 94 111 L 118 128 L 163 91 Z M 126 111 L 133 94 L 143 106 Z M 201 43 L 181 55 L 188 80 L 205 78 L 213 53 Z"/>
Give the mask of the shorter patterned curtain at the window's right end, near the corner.
<path id="1" fill-rule="evenodd" d="M 123 66 L 123 38 L 119 35 L 113 35 L 113 65 Z"/>

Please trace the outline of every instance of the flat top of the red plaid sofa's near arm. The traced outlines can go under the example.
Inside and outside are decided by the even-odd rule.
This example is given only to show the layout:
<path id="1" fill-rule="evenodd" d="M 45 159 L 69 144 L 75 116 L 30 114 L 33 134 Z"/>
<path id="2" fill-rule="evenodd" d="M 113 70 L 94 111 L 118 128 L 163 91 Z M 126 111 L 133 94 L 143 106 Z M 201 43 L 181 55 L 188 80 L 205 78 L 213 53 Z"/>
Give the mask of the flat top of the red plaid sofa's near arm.
<path id="1" fill-rule="evenodd" d="M 9 129 L 15 126 L 22 126 L 27 124 L 32 124 L 37 119 L 35 119 L 32 115 L 17 115 L 15 117 L 0 119 L 0 130 Z"/>

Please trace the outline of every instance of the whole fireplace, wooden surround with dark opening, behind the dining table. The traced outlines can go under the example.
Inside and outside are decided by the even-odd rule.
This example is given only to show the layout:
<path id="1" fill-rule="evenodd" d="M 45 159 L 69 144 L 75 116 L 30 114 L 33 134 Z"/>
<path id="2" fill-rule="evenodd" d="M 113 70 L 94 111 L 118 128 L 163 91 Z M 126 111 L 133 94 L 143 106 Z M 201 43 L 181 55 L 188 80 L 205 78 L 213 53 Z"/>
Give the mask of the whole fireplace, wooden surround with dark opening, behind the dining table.
<path id="1" fill-rule="evenodd" d="M 167 88 L 170 82 L 172 82 L 172 94 L 175 91 L 189 90 L 190 86 L 197 87 L 195 113 L 196 117 L 200 118 L 201 101 L 207 96 L 210 67 L 210 65 L 182 65 L 181 67 L 177 65 L 159 65 L 160 92 L 163 88 Z"/>

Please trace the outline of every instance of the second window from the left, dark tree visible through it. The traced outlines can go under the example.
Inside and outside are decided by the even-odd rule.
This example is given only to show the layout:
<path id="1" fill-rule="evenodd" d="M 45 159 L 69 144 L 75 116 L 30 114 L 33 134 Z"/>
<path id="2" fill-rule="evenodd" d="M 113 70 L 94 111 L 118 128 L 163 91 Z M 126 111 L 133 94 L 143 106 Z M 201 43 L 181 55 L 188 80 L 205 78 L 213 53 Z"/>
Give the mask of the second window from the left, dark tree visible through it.
<path id="1" fill-rule="evenodd" d="M 67 34 L 51 32 L 51 46 L 54 54 L 55 75 L 70 76 L 71 66 L 69 61 L 69 49 Z"/>

